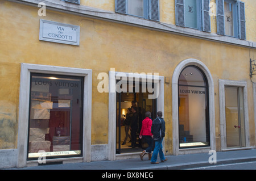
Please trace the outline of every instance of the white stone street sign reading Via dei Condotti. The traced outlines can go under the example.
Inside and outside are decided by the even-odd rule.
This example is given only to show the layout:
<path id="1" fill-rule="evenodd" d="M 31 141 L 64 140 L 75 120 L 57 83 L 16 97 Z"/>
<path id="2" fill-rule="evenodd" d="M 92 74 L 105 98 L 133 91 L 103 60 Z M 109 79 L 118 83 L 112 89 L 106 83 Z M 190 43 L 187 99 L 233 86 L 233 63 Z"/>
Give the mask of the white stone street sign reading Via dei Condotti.
<path id="1" fill-rule="evenodd" d="M 80 27 L 40 19 L 39 40 L 79 45 Z"/>

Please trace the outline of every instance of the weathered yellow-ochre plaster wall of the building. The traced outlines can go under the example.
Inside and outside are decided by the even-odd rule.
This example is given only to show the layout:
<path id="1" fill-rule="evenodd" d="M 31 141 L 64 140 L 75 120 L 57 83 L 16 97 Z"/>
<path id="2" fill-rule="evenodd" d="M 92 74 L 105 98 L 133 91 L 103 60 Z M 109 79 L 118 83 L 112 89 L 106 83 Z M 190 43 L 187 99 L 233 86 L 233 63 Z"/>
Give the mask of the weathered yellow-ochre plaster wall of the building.
<path id="1" fill-rule="evenodd" d="M 213 1 L 214 2 L 214 1 Z M 255 3 L 246 2 L 246 36 L 255 37 Z M 83 1 L 81 5 L 114 12 L 114 1 Z M 120 72 L 159 73 L 172 79 L 176 66 L 195 58 L 210 70 L 214 81 L 216 150 L 221 149 L 218 79 L 247 82 L 250 145 L 255 146 L 253 84 L 249 60 L 255 59 L 255 47 L 226 44 L 129 26 L 86 16 L 48 10 L 38 16 L 39 7 L 0 1 L 0 150 L 17 149 L 20 64 L 40 64 L 92 69 L 92 145 L 108 142 L 108 93 L 97 91 L 97 75 Z M 160 1 L 160 22 L 175 24 L 174 2 Z M 80 46 L 39 40 L 39 20 L 80 26 Z M 212 17 L 212 33 L 216 22 Z M 246 40 L 246 41 L 247 41 Z M 248 43 L 249 44 L 249 43 Z M 164 120 L 166 154 L 172 154 L 172 84 L 164 83 Z M 115 125 L 113 125 L 115 127 Z"/>

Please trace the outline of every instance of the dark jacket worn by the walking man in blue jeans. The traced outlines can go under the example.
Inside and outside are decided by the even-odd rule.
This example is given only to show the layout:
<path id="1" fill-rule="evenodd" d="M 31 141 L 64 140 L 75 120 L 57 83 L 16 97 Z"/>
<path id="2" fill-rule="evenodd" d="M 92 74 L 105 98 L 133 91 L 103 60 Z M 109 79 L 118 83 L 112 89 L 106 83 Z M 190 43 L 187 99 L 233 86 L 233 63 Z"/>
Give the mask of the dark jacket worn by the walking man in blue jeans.
<path id="1" fill-rule="evenodd" d="M 166 122 L 162 117 L 156 117 L 151 126 L 151 133 L 154 134 L 154 140 L 166 136 Z"/>

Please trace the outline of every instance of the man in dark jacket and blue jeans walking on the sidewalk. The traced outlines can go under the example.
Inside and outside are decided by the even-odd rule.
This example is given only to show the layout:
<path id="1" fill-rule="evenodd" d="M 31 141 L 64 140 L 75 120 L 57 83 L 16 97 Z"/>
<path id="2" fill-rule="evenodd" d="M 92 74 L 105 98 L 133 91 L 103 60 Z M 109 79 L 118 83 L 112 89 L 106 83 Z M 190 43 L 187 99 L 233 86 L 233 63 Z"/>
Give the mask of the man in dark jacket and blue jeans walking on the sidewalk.
<path id="1" fill-rule="evenodd" d="M 159 163 L 159 162 L 156 162 L 158 158 L 158 153 L 159 153 L 161 162 L 167 161 L 167 158 L 164 157 L 163 145 L 162 145 L 162 141 L 166 132 L 166 123 L 162 118 L 163 116 L 162 111 L 158 111 L 157 116 L 158 117 L 156 117 L 156 119 L 153 121 L 152 127 L 151 127 L 151 133 L 153 134 L 152 138 L 155 140 L 155 149 L 151 157 L 151 164 Z"/>

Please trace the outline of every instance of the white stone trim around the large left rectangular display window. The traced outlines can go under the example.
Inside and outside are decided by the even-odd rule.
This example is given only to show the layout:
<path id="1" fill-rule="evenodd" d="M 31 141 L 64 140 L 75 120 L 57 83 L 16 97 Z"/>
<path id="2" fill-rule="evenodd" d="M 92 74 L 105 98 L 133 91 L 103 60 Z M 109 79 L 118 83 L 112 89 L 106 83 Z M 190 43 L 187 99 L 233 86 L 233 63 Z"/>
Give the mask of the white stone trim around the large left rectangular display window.
<path id="1" fill-rule="evenodd" d="M 60 66 L 21 64 L 19 91 L 18 161 L 17 167 L 27 165 L 28 113 L 30 98 L 30 73 L 63 74 L 84 77 L 83 110 L 83 161 L 91 160 L 91 122 L 92 122 L 92 70 L 65 68 Z"/>

